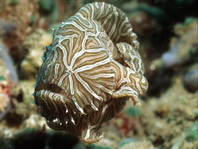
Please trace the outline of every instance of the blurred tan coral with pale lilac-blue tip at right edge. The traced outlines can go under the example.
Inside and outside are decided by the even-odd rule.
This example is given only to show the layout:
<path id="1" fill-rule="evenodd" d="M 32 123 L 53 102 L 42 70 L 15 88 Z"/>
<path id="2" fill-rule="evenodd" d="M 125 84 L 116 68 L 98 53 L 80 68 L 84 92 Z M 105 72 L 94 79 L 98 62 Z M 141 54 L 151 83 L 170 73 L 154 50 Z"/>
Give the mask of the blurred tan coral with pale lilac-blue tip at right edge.
<path id="1" fill-rule="evenodd" d="M 191 19 L 191 21 L 189 19 L 186 19 L 183 24 L 175 25 L 174 30 L 179 37 L 172 38 L 170 50 L 162 55 L 162 60 L 167 67 L 197 61 L 197 19 Z"/>

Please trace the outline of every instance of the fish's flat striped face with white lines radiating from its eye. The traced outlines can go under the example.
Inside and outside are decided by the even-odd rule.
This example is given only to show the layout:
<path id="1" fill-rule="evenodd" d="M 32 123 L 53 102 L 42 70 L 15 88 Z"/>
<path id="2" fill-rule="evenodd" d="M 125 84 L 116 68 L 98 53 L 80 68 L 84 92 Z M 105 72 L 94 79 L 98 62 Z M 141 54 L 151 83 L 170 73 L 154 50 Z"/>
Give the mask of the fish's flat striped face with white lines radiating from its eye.
<path id="1" fill-rule="evenodd" d="M 107 36 L 104 30 L 98 33 L 75 29 L 72 23 L 60 27 L 46 48 L 37 77 L 35 103 L 43 107 L 40 99 L 60 100 L 71 104 L 76 113 L 86 114 L 90 111 L 87 106 L 97 111 L 100 103 L 110 99 L 115 89 L 115 72 L 107 41 L 101 39 Z"/>

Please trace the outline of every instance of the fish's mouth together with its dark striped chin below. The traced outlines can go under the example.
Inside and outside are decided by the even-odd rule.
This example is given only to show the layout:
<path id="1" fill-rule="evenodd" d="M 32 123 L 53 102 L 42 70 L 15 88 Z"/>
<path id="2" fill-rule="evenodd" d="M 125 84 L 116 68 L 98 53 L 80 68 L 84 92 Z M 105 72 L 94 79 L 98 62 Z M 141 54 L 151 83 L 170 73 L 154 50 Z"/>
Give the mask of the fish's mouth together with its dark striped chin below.
<path id="1" fill-rule="evenodd" d="M 68 112 L 66 93 L 56 84 L 41 83 L 33 93 L 34 103 L 38 106 L 38 112 L 48 121 L 59 117 L 62 111 Z"/>

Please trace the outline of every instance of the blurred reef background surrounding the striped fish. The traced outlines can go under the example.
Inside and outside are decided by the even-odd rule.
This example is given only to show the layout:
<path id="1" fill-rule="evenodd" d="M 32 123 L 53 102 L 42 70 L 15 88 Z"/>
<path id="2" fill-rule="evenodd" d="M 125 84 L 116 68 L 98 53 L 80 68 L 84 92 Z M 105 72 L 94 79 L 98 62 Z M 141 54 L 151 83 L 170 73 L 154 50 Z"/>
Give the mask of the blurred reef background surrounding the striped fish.
<path id="1" fill-rule="evenodd" d="M 197 0 L 106 0 L 126 13 L 149 89 L 86 144 L 54 131 L 34 105 L 53 29 L 91 0 L 0 0 L 0 149 L 198 149 Z M 102 2 L 98 0 L 97 2 Z"/>

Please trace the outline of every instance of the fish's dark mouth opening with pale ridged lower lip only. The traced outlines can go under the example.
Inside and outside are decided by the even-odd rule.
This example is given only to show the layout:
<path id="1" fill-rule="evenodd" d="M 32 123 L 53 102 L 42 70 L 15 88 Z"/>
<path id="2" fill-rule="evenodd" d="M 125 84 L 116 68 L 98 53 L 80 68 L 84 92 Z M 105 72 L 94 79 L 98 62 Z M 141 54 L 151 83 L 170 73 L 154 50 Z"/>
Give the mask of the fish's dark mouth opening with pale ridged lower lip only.
<path id="1" fill-rule="evenodd" d="M 65 91 L 56 84 L 41 83 L 35 88 L 33 93 L 35 104 L 39 105 L 39 99 L 45 100 L 67 100 Z"/>

